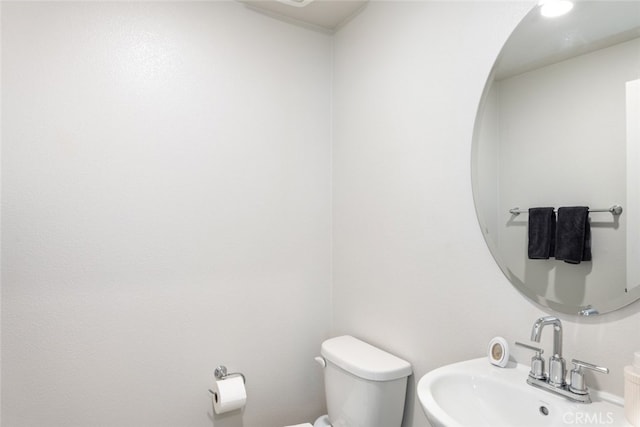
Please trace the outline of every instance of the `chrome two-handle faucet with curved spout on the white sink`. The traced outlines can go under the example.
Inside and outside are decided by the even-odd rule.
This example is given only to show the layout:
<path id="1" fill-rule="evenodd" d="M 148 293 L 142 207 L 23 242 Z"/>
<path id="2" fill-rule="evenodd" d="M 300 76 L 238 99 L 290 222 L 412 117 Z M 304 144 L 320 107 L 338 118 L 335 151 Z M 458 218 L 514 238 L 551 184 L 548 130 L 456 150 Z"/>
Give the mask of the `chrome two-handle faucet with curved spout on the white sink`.
<path id="1" fill-rule="evenodd" d="M 544 351 L 541 348 L 516 342 L 517 345 L 536 352 L 535 356 L 531 358 L 531 371 L 527 378 L 527 384 L 559 394 L 575 402 L 590 403 L 591 397 L 589 396 L 589 389 L 584 382 L 582 369 L 586 368 L 604 374 L 608 374 L 609 370 L 573 359 L 572 362 L 575 367 L 571 371 L 571 384 L 567 384 L 565 380 L 565 361 L 562 358 L 562 323 L 560 319 L 553 316 L 545 316 L 536 320 L 533 324 L 533 329 L 531 329 L 531 341 L 540 342 L 542 329 L 547 325 L 553 325 L 553 354 L 549 357 L 548 375 L 544 372 L 544 360 L 542 359 Z"/>

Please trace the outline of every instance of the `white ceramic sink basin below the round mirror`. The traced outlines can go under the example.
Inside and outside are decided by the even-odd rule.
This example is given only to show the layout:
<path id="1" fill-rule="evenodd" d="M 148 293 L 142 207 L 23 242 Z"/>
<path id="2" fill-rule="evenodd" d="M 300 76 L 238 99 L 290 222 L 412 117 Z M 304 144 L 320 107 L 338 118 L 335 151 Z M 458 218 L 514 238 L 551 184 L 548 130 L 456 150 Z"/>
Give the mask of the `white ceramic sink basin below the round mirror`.
<path id="1" fill-rule="evenodd" d="M 418 399 L 433 427 L 631 427 L 623 400 L 591 391 L 592 403 L 576 403 L 526 383 L 529 367 L 491 365 L 486 357 L 435 369 L 418 382 Z"/>

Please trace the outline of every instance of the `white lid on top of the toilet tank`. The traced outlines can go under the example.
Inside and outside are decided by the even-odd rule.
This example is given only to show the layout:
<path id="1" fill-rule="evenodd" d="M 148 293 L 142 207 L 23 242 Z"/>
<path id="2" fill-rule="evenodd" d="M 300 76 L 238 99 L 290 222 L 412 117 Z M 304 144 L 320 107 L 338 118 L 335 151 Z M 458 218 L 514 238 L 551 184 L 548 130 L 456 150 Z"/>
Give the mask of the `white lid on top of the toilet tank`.
<path id="1" fill-rule="evenodd" d="M 343 335 L 322 343 L 322 356 L 347 372 L 372 381 L 391 381 L 411 375 L 411 364 L 393 354 Z"/>

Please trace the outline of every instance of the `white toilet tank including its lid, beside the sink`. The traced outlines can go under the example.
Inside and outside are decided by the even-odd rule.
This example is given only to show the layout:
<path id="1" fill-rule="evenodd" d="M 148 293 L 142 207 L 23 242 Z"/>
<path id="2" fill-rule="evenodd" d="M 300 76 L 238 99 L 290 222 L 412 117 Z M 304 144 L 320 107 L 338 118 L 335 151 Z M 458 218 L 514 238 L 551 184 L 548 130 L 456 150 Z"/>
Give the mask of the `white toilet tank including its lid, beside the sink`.
<path id="1" fill-rule="evenodd" d="M 322 343 L 333 427 L 400 427 L 411 364 L 345 335 Z"/>

